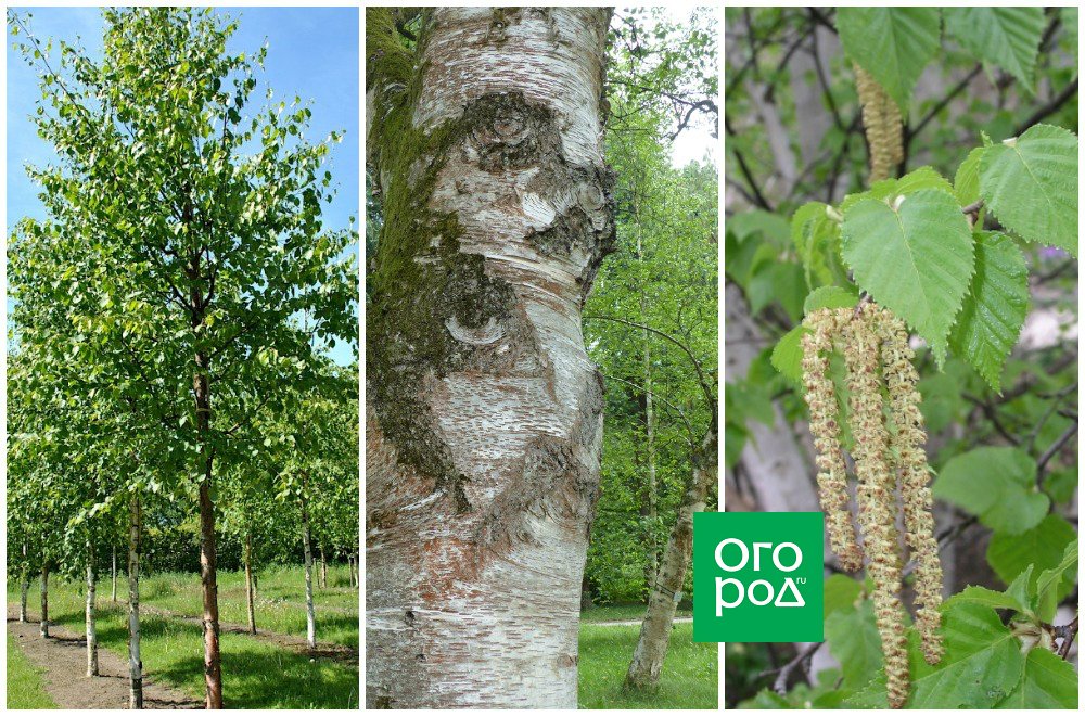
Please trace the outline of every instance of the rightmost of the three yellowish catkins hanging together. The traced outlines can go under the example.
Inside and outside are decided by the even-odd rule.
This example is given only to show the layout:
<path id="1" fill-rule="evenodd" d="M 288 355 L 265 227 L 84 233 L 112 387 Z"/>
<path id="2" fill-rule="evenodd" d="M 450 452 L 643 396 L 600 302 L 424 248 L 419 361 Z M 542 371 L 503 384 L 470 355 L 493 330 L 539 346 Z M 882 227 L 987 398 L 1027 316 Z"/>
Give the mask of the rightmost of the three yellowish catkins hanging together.
<path id="1" fill-rule="evenodd" d="M 933 499 L 928 487 L 930 472 L 923 445 L 923 415 L 919 410 L 917 389 L 919 374 L 911 359 L 908 332 L 904 321 L 888 310 L 871 307 L 875 331 L 882 342 L 882 374 L 889 393 L 890 414 L 896 432 L 892 437 L 896 453 L 898 487 L 904 504 L 906 539 L 916 564 L 916 628 L 919 630 L 923 656 L 936 664 L 943 654 L 942 635 L 942 564 L 939 544 L 934 538 Z"/>

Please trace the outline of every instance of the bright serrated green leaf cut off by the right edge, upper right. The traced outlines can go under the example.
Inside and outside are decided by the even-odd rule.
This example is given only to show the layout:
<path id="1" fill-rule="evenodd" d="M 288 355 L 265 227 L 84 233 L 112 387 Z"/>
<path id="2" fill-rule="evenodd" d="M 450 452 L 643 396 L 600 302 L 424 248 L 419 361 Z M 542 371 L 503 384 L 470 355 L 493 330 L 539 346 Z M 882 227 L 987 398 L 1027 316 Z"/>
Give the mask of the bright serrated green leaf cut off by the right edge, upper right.
<path id="1" fill-rule="evenodd" d="M 1077 256 L 1077 137 L 1036 125 L 993 144 L 980 161 L 980 193 L 1022 239 Z"/>

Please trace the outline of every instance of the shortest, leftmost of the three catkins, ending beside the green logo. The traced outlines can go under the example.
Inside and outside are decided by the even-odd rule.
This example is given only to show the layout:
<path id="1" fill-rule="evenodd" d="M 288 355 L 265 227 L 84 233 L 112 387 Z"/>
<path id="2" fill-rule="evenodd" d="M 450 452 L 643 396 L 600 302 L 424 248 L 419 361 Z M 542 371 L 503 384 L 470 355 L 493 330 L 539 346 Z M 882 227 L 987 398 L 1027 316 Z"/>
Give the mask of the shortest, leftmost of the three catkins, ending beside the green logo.
<path id="1" fill-rule="evenodd" d="M 845 312 L 850 311 L 845 309 Z M 816 311 L 807 319 L 809 332 L 803 336 L 803 382 L 814 435 L 818 497 L 826 515 L 829 544 L 842 568 L 858 572 L 863 568 L 863 552 L 847 509 L 847 468 L 840 446 L 837 396 L 829 375 L 829 354 L 839 316 L 839 311 Z"/>

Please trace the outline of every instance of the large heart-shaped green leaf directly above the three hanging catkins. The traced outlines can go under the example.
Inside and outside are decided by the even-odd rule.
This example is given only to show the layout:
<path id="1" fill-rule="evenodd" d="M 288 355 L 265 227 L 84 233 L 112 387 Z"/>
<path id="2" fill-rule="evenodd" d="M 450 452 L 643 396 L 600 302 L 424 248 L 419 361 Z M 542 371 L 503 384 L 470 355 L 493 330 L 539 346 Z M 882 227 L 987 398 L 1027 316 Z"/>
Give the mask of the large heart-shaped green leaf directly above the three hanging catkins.
<path id="1" fill-rule="evenodd" d="M 864 199 L 844 214 L 842 232 L 856 283 L 911 325 L 941 365 L 974 261 L 957 202 L 931 189 L 893 205 Z"/>

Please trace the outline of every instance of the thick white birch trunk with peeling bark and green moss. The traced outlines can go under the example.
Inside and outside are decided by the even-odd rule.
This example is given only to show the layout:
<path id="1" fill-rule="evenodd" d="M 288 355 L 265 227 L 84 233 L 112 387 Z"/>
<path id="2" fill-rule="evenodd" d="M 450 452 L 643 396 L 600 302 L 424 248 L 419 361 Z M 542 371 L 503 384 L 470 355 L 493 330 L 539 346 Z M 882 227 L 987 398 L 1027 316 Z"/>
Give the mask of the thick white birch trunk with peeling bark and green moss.
<path id="1" fill-rule="evenodd" d="M 367 10 L 369 707 L 576 707 L 609 9 Z M 412 77 L 412 73 L 421 76 Z M 404 91 L 403 88 L 413 88 Z"/>

